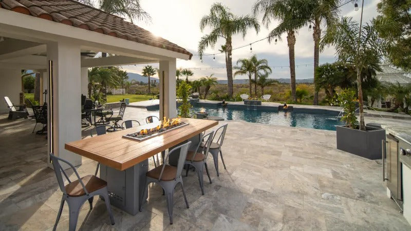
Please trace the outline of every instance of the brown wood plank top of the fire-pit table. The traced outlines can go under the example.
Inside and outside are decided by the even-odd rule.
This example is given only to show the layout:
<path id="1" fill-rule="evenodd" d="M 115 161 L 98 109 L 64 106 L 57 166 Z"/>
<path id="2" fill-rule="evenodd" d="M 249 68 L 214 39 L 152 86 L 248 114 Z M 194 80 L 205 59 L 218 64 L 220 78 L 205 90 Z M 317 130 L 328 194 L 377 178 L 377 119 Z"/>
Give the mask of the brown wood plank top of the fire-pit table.
<path id="1" fill-rule="evenodd" d="M 158 123 L 73 141 L 66 143 L 65 149 L 109 167 L 124 170 L 218 125 L 217 121 L 212 120 L 182 118 L 181 121 L 189 125 L 166 131 L 143 141 L 130 140 L 123 136 L 144 128 L 156 127 Z"/>

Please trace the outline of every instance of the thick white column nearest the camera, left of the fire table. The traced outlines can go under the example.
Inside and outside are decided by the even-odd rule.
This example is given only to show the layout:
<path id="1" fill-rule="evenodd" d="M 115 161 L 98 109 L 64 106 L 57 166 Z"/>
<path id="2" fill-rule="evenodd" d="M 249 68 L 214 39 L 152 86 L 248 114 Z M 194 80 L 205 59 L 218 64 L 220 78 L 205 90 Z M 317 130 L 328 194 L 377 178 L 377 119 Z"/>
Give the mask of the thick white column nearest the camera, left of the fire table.
<path id="1" fill-rule="evenodd" d="M 81 62 L 80 46 L 70 42 L 47 44 L 47 60 L 52 61 L 53 136 L 54 155 L 74 166 L 81 164 L 81 156 L 64 149 L 64 144 L 81 140 Z M 48 94 L 51 91 L 48 89 Z M 50 102 L 47 99 L 48 110 Z M 49 118 L 50 121 L 50 118 Z M 50 130 L 48 127 L 48 138 Z"/>

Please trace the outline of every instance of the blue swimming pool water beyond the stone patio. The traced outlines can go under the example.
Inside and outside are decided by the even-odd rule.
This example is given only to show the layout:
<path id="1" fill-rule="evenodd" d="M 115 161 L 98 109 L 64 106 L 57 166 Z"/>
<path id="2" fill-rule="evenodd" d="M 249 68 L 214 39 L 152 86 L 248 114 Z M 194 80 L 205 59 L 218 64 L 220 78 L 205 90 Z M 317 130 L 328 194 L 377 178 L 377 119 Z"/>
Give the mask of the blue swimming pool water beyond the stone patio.
<path id="1" fill-rule="evenodd" d="M 204 107 L 209 115 L 225 120 L 244 120 L 251 123 L 275 124 L 291 127 L 306 127 L 335 131 L 336 125 L 343 125 L 335 113 L 309 113 L 309 111 L 264 111 L 249 109 L 231 109 L 225 107 Z M 190 114 L 200 111 L 201 107 L 192 107 Z M 308 109 L 307 109 L 308 110 Z"/>

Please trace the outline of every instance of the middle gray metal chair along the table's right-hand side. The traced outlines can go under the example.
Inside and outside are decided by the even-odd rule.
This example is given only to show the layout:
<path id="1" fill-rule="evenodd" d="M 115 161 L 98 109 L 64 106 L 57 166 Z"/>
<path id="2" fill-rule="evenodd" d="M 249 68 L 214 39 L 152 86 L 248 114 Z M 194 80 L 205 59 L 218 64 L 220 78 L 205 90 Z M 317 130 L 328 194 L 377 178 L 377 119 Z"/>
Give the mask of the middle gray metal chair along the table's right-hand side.
<path id="1" fill-rule="evenodd" d="M 212 183 L 206 160 L 209 154 L 209 149 L 210 149 L 211 140 L 213 139 L 213 134 L 214 134 L 214 131 L 210 131 L 204 136 L 203 134 L 200 134 L 200 142 L 198 143 L 197 148 L 195 149 L 195 151 L 189 151 L 187 153 L 187 157 L 185 158 L 185 162 L 184 162 L 185 176 L 188 176 L 189 174 L 190 165 L 193 166 L 197 170 L 198 181 L 200 182 L 200 188 L 201 188 L 202 195 L 204 195 L 204 184 L 203 184 L 204 182 L 203 182 L 203 174 L 202 174 L 204 167 L 206 167 L 207 176 L 209 177 L 210 184 Z M 203 147 L 200 147 L 200 145 L 202 144 L 202 142 L 204 142 L 204 140 L 206 140 L 206 138 L 207 138 L 206 145 L 203 145 Z M 201 150 L 199 151 L 200 148 Z"/>

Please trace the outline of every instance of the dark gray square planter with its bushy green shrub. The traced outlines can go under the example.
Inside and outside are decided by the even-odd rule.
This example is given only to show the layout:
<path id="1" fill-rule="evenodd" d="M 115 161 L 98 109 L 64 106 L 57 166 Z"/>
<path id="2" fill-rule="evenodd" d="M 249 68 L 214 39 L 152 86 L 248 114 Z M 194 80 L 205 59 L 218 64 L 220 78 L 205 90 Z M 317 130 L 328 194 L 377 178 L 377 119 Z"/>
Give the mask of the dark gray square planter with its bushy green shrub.
<path id="1" fill-rule="evenodd" d="M 381 158 L 381 140 L 385 140 L 385 130 L 365 126 L 359 129 L 356 117 L 356 92 L 345 89 L 338 95 L 338 102 L 343 107 L 341 120 L 345 126 L 337 126 L 337 149 L 371 160 Z"/>

